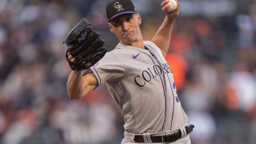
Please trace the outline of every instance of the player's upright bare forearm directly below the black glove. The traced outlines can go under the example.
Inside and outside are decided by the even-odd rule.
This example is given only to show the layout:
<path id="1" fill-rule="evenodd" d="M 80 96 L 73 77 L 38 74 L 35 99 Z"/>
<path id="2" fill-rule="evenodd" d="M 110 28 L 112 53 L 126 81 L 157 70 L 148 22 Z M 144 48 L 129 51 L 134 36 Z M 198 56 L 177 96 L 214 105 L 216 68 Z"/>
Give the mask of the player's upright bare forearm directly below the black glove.
<path id="1" fill-rule="evenodd" d="M 77 73 L 77 74 L 76 74 Z M 68 95 L 71 100 L 81 99 L 83 95 L 82 71 L 72 71 L 67 84 Z"/>

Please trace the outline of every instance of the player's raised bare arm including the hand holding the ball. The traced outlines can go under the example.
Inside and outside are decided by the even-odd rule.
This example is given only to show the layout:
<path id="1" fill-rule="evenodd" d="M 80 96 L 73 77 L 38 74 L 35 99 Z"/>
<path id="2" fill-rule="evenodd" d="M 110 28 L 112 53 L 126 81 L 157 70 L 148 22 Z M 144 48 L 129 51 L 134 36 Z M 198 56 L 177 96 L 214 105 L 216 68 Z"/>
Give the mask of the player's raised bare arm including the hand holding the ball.
<path id="1" fill-rule="evenodd" d="M 155 43 L 161 49 L 164 57 L 166 56 L 169 49 L 173 23 L 175 18 L 177 18 L 179 15 L 180 6 L 180 3 L 177 3 L 176 10 L 169 12 L 166 10 L 169 7 L 168 2 L 169 0 L 165 0 L 161 3 L 162 11 L 166 15 L 166 17 L 162 25 L 156 32 L 155 36 L 151 40 L 151 42 Z"/>

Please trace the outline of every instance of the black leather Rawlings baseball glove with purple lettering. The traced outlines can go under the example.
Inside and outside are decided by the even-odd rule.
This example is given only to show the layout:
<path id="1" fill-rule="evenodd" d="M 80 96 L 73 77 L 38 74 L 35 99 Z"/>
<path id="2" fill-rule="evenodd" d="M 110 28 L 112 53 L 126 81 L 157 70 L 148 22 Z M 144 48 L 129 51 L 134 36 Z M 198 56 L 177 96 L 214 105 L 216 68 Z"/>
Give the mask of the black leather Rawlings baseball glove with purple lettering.
<path id="1" fill-rule="evenodd" d="M 104 40 L 98 37 L 99 33 L 93 30 L 85 18 L 69 32 L 65 40 L 68 46 L 66 59 L 72 70 L 87 69 L 106 54 L 107 48 L 103 46 Z M 74 62 L 68 59 L 68 52 L 74 57 Z"/>

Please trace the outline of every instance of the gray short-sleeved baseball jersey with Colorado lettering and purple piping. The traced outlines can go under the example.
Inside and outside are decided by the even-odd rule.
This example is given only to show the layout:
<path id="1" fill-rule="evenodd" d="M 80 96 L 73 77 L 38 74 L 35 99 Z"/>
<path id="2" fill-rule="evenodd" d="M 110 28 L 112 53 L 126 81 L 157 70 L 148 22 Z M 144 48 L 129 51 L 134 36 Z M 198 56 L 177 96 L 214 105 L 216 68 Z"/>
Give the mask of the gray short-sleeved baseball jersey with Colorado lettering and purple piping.
<path id="1" fill-rule="evenodd" d="M 93 72 L 98 86 L 106 82 L 122 110 L 126 131 L 155 133 L 185 126 L 187 116 L 170 66 L 153 42 L 144 45 L 146 49 L 119 43 L 83 75 Z"/>

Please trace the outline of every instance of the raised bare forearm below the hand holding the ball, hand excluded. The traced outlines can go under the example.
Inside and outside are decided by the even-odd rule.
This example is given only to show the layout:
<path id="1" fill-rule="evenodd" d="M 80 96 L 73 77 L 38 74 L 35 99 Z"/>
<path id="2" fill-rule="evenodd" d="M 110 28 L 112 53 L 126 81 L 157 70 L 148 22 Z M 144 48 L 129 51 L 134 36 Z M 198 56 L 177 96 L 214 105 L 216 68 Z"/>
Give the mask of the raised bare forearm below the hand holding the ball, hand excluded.
<path id="1" fill-rule="evenodd" d="M 165 17 L 162 25 L 151 40 L 151 42 L 154 42 L 161 49 L 164 57 L 169 49 L 173 22 L 174 20 L 170 20 L 168 17 Z"/>

